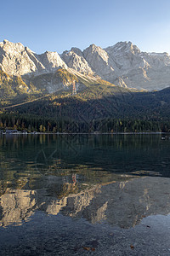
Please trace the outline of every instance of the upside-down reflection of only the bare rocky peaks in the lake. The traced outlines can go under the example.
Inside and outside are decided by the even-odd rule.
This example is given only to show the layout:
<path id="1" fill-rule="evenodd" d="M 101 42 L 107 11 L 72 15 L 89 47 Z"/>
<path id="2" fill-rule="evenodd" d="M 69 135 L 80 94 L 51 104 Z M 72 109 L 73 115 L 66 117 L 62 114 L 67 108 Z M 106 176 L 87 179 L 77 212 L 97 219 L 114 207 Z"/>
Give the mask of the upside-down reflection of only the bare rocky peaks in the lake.
<path id="1" fill-rule="evenodd" d="M 140 177 L 96 184 L 80 192 L 75 183 L 67 183 L 66 188 L 60 187 L 59 196 L 48 195 L 49 188 L 8 190 L 1 196 L 0 224 L 22 224 L 36 211 L 42 211 L 86 218 L 92 224 L 105 220 L 121 228 L 130 228 L 144 217 L 170 213 L 170 181 L 166 177 Z"/>

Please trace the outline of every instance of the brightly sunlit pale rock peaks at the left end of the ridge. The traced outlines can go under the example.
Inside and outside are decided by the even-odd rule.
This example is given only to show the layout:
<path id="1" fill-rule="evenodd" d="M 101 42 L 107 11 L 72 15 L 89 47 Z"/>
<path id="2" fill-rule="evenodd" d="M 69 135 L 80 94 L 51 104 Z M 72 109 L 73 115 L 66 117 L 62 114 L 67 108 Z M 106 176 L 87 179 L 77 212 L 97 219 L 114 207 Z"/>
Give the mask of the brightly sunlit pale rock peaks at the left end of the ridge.
<path id="1" fill-rule="evenodd" d="M 57 52 L 36 55 L 23 44 L 14 44 L 8 40 L 0 43 L 0 63 L 9 75 L 49 72 L 58 67 L 67 68 Z"/>

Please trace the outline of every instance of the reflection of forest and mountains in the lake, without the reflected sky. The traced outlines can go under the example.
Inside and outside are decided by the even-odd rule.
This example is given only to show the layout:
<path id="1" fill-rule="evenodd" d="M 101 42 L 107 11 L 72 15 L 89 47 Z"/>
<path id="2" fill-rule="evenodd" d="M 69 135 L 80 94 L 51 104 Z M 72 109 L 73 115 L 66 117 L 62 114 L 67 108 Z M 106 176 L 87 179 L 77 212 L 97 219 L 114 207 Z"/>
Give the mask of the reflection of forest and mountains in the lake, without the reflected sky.
<path id="1" fill-rule="evenodd" d="M 0 224 L 41 211 L 127 229 L 168 214 L 169 144 L 151 135 L 0 137 Z"/>

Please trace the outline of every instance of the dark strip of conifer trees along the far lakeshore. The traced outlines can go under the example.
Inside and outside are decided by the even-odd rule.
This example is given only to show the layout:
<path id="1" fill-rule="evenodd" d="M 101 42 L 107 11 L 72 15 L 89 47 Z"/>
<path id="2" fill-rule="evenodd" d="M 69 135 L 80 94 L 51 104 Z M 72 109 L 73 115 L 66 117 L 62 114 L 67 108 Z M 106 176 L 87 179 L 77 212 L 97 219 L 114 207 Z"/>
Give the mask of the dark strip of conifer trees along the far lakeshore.
<path id="1" fill-rule="evenodd" d="M 3 113 L 0 115 L 0 130 L 39 132 L 170 132 L 170 121 L 146 119 L 93 119 L 75 120 L 65 118 L 48 119 L 31 114 Z"/>

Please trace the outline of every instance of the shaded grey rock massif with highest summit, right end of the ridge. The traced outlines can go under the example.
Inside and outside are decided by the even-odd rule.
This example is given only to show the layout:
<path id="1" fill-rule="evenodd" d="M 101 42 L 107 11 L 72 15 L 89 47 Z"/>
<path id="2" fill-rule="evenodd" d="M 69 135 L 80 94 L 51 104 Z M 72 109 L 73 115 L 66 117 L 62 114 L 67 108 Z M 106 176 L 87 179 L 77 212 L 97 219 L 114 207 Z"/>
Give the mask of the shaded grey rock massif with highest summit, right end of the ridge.
<path id="1" fill-rule="evenodd" d="M 116 77 L 122 78 L 127 87 L 161 90 L 170 85 L 167 79 L 170 71 L 170 56 L 167 53 L 141 52 L 131 42 L 117 43 L 105 48 L 105 51 L 119 67 Z"/>

